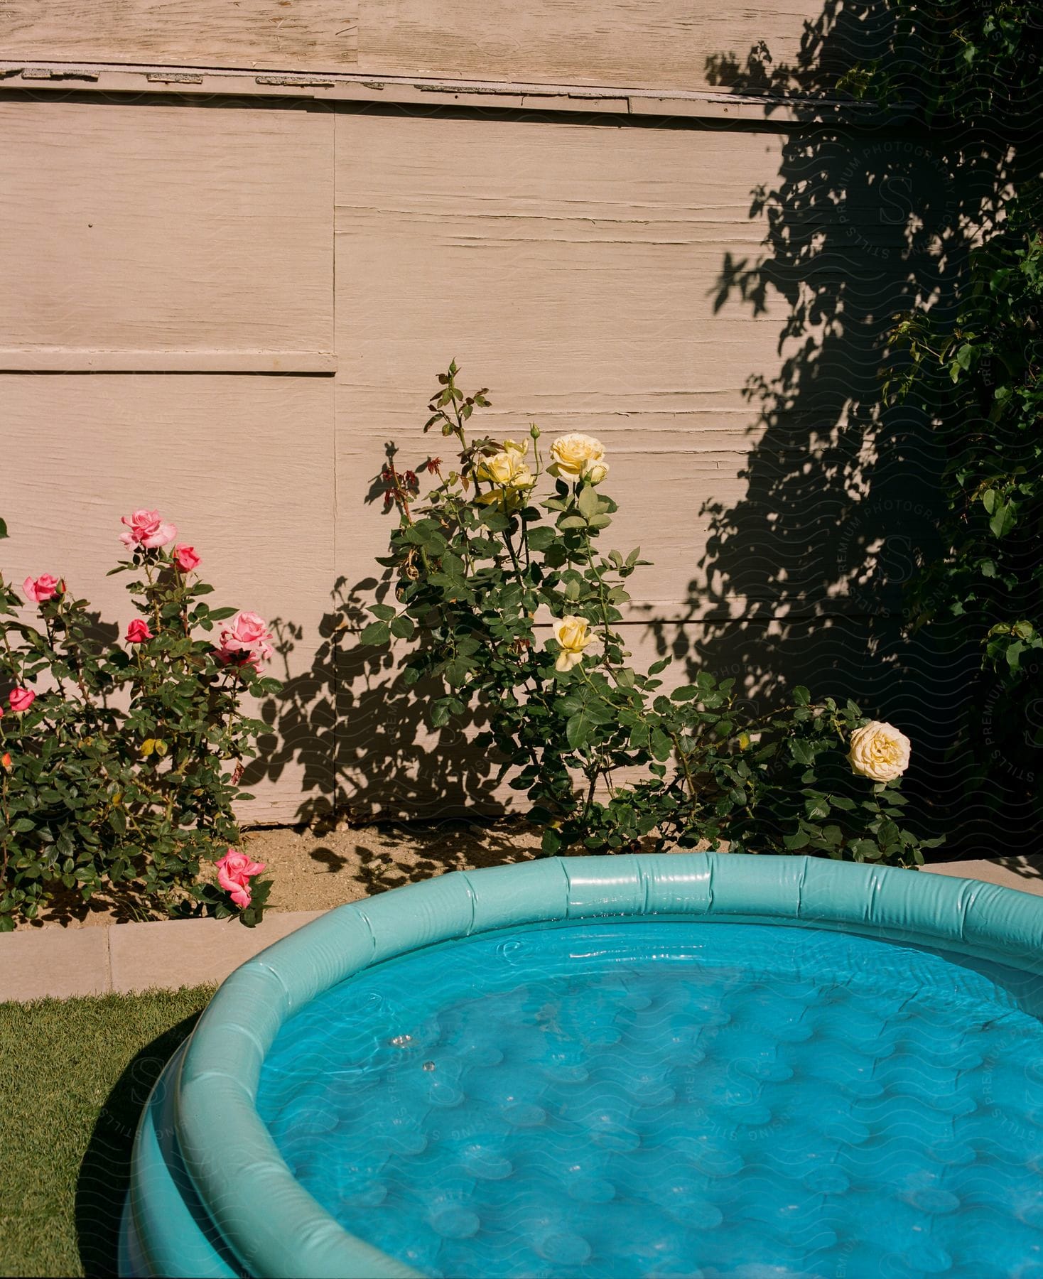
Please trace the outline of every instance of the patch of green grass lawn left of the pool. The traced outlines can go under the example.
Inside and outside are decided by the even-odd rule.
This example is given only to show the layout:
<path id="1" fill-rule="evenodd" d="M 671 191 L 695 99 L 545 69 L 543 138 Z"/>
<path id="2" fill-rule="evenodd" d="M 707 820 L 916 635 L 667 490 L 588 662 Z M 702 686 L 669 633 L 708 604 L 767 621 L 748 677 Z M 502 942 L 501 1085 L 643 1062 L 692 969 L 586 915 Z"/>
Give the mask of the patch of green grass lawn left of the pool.
<path id="1" fill-rule="evenodd" d="M 0 1004 L 0 1275 L 111 1275 L 148 1091 L 212 986 Z"/>

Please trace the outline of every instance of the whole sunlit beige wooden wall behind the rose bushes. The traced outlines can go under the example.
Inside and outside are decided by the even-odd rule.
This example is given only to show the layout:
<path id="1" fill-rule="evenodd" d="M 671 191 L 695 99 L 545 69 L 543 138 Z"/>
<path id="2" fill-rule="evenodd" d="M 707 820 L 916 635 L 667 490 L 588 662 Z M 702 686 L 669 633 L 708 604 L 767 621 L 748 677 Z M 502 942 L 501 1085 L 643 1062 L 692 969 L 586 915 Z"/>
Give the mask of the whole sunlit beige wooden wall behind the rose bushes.
<path id="1" fill-rule="evenodd" d="M 658 0 L 639 22 L 622 0 L 6 0 L 0 59 L 698 90 L 722 45 L 764 37 L 782 56 L 818 10 L 775 0 L 736 24 Z M 722 292 L 763 256 L 753 193 L 778 183 L 791 125 L 12 86 L 0 569 L 63 574 L 123 629 L 120 579 L 104 577 L 119 517 L 157 506 L 220 602 L 291 628 L 249 820 L 332 797 L 396 816 L 495 799 L 488 767 L 465 779 L 460 742 L 418 734 L 355 640 L 386 546 L 383 445 L 426 454 L 426 396 L 451 358 L 491 388 L 491 432 L 534 420 L 605 441 L 612 544 L 654 561 L 628 618 L 639 660 L 702 643 L 708 600 L 764 634 L 824 610 L 860 651 L 867 608 L 826 599 L 813 565 L 749 590 L 700 576 L 706 504 L 743 500 L 763 430 L 746 381 L 792 354 L 785 281 L 757 308 Z"/>

